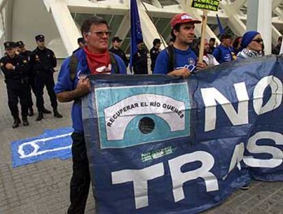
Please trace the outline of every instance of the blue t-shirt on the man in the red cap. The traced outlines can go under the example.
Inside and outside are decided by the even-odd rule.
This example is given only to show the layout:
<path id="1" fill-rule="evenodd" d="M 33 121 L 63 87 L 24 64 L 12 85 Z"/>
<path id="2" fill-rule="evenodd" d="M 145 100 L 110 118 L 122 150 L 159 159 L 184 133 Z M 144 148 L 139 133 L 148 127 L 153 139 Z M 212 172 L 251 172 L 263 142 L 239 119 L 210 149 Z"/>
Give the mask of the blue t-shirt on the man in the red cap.
<path id="1" fill-rule="evenodd" d="M 191 72 L 196 70 L 197 56 L 196 53 L 191 51 L 190 48 L 187 49 L 187 51 L 181 51 L 179 49 L 174 48 L 174 52 L 175 52 L 174 70 L 184 67 L 191 70 Z M 167 50 L 164 49 L 159 53 L 157 57 L 157 61 L 155 62 L 153 73 L 167 75 L 167 73 L 170 72 L 169 66 L 170 66 L 169 55 L 167 53 Z"/>

